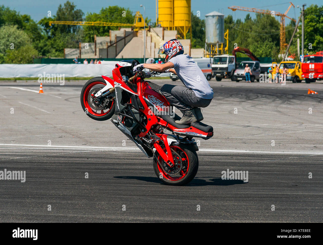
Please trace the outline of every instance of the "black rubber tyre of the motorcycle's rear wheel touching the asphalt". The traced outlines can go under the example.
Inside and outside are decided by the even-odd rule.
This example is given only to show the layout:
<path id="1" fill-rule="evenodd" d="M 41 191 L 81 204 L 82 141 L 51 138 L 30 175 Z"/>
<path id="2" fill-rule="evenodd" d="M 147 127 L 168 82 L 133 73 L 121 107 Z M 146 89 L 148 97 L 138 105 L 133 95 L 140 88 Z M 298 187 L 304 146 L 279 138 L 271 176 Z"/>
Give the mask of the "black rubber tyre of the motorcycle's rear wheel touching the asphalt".
<path id="1" fill-rule="evenodd" d="M 179 149 L 176 149 L 179 148 Z M 199 168 L 199 160 L 196 154 L 196 151 L 193 149 L 193 147 L 189 144 L 180 144 L 179 146 L 171 146 L 171 148 L 175 149 L 176 151 L 182 151 L 184 152 L 185 158 L 187 158 L 186 161 L 188 161 L 188 169 L 185 173 L 185 176 L 182 178 L 176 180 L 176 178 L 173 178 L 172 176 L 168 176 L 167 173 L 160 167 L 157 157 L 160 157 L 158 152 L 155 151 L 154 153 L 154 159 L 153 159 L 153 167 L 156 176 L 166 185 L 170 186 L 182 186 L 190 183 L 192 179 L 195 177 L 197 170 Z M 160 177 L 162 176 L 162 178 Z M 178 178 L 181 177 L 180 174 L 178 174 Z"/>

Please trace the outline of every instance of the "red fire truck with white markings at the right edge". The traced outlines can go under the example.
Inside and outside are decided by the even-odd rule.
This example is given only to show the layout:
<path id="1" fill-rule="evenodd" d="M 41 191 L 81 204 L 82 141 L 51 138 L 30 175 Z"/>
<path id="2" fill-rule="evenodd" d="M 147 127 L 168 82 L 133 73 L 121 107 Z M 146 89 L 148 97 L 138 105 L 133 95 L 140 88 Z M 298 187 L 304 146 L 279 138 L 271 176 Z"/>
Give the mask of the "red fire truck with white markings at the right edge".
<path id="1" fill-rule="evenodd" d="M 323 79 L 323 51 L 305 55 L 302 63 L 302 78 L 306 83 Z"/>

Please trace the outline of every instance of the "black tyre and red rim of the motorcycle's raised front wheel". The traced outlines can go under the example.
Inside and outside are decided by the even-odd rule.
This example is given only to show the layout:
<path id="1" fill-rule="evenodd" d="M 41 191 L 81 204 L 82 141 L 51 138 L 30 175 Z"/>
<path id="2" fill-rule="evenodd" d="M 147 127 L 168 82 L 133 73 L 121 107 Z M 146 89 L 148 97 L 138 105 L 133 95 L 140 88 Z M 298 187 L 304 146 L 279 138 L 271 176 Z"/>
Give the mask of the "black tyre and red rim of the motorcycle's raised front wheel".
<path id="1" fill-rule="evenodd" d="M 88 96 L 89 96 L 89 91 L 94 87 L 94 86 L 98 86 L 98 87 L 104 87 L 106 86 L 107 83 L 106 81 L 102 78 L 102 77 L 95 77 L 90 79 L 89 81 L 87 81 L 81 91 L 81 96 L 80 96 L 80 100 L 81 100 L 81 106 L 83 111 L 92 119 L 97 120 L 97 121 L 105 121 L 108 120 L 112 117 L 112 115 L 114 114 L 115 108 L 116 108 L 116 103 L 115 100 L 110 101 L 107 106 L 107 109 L 104 110 L 100 110 L 100 113 L 98 113 L 98 111 L 93 110 L 90 107 L 90 102 L 88 101 Z M 109 97 L 114 97 L 114 93 L 110 95 L 108 95 Z M 110 105 L 111 103 L 111 105 Z"/>

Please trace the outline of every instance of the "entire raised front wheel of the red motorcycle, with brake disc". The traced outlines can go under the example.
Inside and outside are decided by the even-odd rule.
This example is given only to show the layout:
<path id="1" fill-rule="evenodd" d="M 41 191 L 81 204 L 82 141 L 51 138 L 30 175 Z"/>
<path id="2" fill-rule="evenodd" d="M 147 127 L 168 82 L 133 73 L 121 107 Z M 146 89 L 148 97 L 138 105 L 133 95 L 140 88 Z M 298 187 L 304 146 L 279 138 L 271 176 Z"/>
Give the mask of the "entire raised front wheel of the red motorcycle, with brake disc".
<path id="1" fill-rule="evenodd" d="M 80 100 L 83 111 L 97 121 L 110 119 L 116 107 L 114 93 L 101 99 L 94 96 L 106 85 L 107 83 L 102 77 L 95 77 L 87 81 L 81 91 Z"/>

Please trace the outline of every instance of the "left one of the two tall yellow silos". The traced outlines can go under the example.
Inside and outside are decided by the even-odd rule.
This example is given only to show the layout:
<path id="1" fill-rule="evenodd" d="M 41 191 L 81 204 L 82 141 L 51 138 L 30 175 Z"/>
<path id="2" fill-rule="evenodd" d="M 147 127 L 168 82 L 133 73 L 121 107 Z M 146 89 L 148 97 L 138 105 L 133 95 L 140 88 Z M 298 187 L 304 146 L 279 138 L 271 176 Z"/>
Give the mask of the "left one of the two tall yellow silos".
<path id="1" fill-rule="evenodd" d="M 158 1 L 158 24 L 168 30 L 173 29 L 173 0 Z"/>

